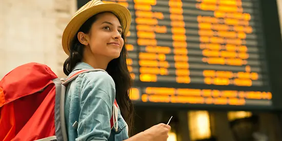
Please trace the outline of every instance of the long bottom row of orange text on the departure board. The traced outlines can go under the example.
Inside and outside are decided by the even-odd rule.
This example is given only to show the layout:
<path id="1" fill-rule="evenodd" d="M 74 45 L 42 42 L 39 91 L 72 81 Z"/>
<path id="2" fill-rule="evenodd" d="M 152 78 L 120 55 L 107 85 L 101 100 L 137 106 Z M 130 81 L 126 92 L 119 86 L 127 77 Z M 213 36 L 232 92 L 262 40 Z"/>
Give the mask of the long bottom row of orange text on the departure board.
<path id="1" fill-rule="evenodd" d="M 132 88 L 130 98 L 143 103 L 178 103 L 208 105 L 272 105 L 271 92 L 165 87 Z"/>

